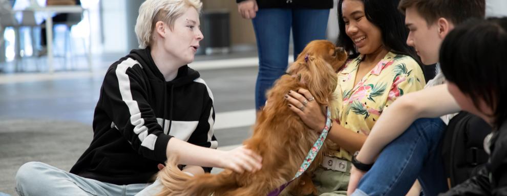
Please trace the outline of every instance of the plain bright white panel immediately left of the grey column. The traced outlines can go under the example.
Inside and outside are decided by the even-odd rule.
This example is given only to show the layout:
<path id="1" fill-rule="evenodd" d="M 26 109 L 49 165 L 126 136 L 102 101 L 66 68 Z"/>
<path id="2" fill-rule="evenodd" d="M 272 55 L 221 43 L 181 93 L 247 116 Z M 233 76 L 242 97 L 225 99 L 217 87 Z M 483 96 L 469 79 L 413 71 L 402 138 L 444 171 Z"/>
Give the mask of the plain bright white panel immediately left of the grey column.
<path id="1" fill-rule="evenodd" d="M 103 14 L 103 53 L 125 53 L 125 51 L 128 51 L 125 21 L 126 1 L 129 0 L 100 1 Z"/>

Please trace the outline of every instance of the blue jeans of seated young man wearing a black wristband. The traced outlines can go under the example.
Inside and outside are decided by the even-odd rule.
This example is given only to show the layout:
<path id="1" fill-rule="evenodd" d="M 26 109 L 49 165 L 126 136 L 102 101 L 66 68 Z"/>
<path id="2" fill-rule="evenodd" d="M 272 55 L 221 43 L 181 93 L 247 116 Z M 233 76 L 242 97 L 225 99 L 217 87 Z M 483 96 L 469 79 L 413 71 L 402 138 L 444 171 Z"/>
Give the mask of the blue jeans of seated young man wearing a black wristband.
<path id="1" fill-rule="evenodd" d="M 352 195 L 405 195 L 416 179 L 424 195 L 447 191 L 439 145 L 445 128 L 440 118 L 416 120 L 384 148 Z"/>

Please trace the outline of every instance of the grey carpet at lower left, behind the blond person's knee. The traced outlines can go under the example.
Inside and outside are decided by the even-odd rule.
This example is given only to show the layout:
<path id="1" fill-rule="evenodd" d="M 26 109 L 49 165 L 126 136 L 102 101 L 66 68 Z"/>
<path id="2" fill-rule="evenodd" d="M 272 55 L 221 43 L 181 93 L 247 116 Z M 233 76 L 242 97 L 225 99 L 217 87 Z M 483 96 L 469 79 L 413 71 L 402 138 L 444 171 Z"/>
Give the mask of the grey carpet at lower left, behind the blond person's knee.
<path id="1" fill-rule="evenodd" d="M 17 195 L 14 176 L 26 162 L 70 170 L 92 140 L 92 127 L 72 121 L 0 120 L 0 192 Z"/>

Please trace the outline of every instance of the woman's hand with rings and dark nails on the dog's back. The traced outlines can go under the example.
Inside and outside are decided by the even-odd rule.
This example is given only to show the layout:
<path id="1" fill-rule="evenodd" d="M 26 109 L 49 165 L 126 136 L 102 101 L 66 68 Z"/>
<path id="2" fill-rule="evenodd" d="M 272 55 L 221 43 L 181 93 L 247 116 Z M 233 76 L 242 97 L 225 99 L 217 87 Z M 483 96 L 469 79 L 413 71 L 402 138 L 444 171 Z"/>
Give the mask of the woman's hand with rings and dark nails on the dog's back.
<path id="1" fill-rule="evenodd" d="M 301 117 L 306 126 L 319 133 L 326 125 L 326 116 L 322 108 L 315 102 L 310 91 L 300 88 L 298 92 L 290 90 L 285 99 L 289 102 L 288 107 Z"/>

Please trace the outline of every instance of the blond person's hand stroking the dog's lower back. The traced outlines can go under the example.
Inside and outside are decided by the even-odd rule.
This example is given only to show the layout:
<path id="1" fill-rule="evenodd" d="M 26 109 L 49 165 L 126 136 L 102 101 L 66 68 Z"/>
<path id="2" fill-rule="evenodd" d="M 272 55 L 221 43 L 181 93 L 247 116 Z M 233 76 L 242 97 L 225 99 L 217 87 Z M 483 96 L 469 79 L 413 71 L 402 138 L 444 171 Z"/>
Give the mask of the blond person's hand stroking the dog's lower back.
<path id="1" fill-rule="evenodd" d="M 234 170 L 238 173 L 243 171 L 255 172 L 262 168 L 262 157 L 253 151 L 240 146 L 230 151 L 222 151 L 220 156 L 222 168 Z"/>

